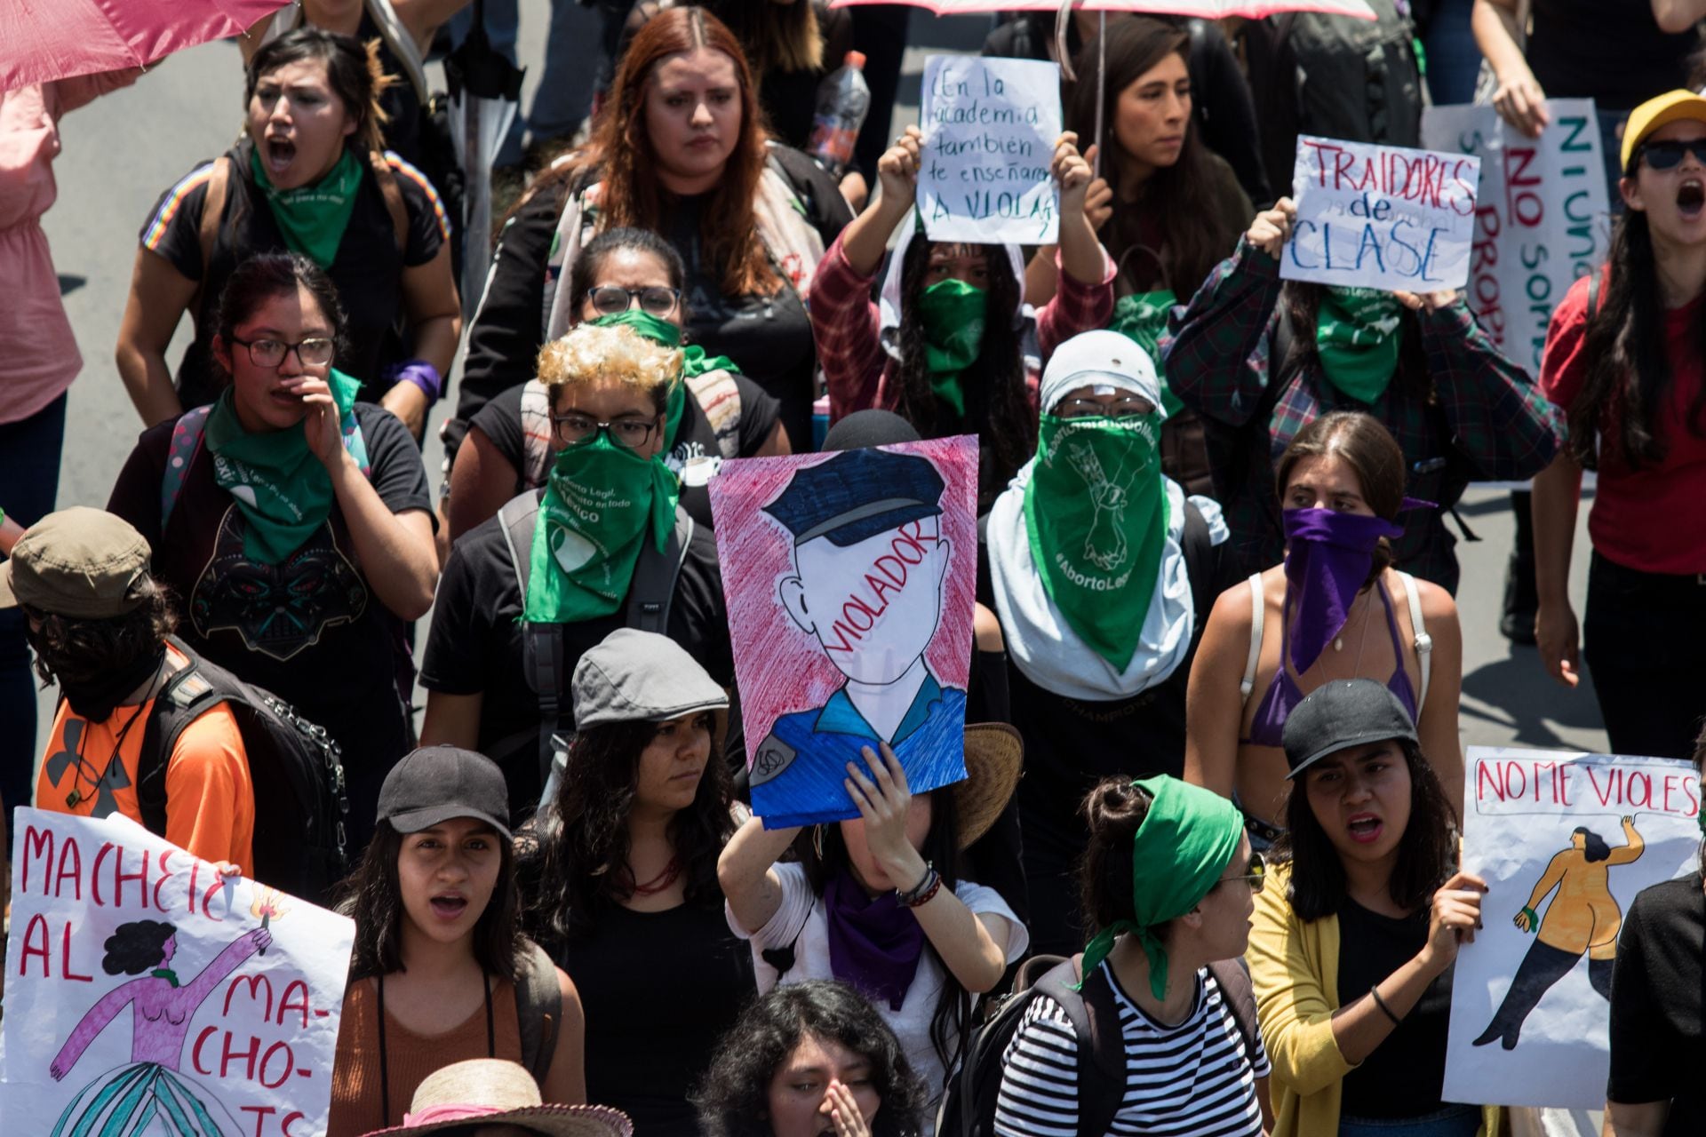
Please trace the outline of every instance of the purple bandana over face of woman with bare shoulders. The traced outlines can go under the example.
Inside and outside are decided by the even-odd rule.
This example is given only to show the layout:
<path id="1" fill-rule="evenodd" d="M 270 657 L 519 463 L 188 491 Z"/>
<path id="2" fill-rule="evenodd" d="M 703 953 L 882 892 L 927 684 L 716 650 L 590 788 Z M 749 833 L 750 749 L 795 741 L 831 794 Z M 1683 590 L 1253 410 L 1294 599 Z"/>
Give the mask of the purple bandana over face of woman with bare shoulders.
<path id="1" fill-rule="evenodd" d="M 1302 675 L 1344 627 L 1356 593 L 1368 583 L 1375 545 L 1404 527 L 1384 517 L 1336 510 L 1285 511 L 1286 600 L 1297 598 L 1291 668 Z"/>

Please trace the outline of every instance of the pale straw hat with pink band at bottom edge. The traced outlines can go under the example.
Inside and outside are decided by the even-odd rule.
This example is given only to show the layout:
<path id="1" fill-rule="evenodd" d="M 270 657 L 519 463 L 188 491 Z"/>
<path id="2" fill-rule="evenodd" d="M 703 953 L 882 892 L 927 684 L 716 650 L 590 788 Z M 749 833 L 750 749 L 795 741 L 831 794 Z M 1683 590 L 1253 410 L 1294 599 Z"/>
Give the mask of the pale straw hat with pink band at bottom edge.
<path id="1" fill-rule="evenodd" d="M 541 1105 L 539 1086 L 515 1062 L 471 1059 L 426 1076 L 415 1091 L 403 1125 L 367 1137 L 437 1134 L 479 1125 L 519 1125 L 543 1137 L 633 1137 L 621 1110 L 602 1105 Z"/>

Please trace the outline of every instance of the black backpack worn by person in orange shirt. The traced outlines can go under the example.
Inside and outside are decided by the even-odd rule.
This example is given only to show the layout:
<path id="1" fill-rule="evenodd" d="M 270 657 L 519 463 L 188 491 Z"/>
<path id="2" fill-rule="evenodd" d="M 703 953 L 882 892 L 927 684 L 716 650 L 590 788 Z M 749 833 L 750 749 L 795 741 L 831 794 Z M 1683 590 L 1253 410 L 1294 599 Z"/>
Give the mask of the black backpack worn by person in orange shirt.
<path id="1" fill-rule="evenodd" d="M 165 767 L 177 736 L 217 706 L 230 709 L 254 786 L 254 880 L 324 905 L 348 871 L 341 750 L 326 728 L 278 695 L 203 660 L 176 636 L 188 667 L 165 680 L 142 736 L 136 803 L 142 823 L 165 835 Z"/>

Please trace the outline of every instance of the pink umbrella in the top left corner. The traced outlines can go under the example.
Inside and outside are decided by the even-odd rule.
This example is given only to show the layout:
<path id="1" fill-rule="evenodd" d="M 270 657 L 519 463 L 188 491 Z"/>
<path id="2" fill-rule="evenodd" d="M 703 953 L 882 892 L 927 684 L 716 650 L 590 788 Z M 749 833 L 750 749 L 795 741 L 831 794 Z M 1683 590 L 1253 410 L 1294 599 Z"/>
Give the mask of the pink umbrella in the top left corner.
<path id="1" fill-rule="evenodd" d="M 241 36 L 285 0 L 3 0 L 0 90 L 147 66 Z"/>

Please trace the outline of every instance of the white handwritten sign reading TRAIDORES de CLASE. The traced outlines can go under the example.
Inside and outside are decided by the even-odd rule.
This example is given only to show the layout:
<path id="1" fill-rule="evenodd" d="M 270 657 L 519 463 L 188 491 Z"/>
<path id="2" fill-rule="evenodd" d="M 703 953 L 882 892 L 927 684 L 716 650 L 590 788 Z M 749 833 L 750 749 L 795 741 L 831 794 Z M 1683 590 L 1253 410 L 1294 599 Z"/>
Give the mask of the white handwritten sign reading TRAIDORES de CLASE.
<path id="1" fill-rule="evenodd" d="M 1300 135 L 1283 280 L 1387 291 L 1469 280 L 1481 159 Z"/>

